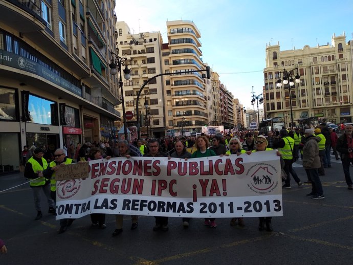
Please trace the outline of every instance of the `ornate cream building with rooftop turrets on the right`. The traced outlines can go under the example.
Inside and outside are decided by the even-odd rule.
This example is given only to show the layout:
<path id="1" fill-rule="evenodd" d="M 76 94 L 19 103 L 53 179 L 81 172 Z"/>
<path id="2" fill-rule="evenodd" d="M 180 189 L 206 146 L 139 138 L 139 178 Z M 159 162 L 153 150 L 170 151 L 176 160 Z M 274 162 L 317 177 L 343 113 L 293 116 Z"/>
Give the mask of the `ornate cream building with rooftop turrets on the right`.
<path id="1" fill-rule="evenodd" d="M 283 69 L 294 70 L 300 83 L 289 89 L 276 86 Z M 280 51 L 280 45 L 267 45 L 264 74 L 266 118 L 286 117 L 296 125 L 329 121 L 352 121 L 352 46 L 343 33 L 332 36 L 331 44 Z M 289 94 L 291 93 L 291 95 Z M 289 126 L 289 123 L 286 124 Z"/>

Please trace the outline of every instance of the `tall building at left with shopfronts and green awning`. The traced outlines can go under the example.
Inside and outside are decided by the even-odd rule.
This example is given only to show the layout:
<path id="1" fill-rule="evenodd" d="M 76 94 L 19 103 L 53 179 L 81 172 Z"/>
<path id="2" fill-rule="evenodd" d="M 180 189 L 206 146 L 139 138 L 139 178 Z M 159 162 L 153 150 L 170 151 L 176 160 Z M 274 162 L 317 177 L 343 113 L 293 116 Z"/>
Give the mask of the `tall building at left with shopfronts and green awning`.
<path id="1" fill-rule="evenodd" d="M 120 104 L 109 73 L 115 1 L 0 1 L 0 173 L 24 145 L 114 137 Z M 8 150 L 11 150 L 9 152 Z"/>

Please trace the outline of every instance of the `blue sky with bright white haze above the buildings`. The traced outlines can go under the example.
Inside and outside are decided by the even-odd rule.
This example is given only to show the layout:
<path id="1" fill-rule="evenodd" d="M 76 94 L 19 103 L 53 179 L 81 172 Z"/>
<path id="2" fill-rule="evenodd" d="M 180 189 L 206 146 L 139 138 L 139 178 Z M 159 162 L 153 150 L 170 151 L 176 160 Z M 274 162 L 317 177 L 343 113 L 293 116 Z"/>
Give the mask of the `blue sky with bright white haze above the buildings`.
<path id="1" fill-rule="evenodd" d="M 252 108 L 252 86 L 256 96 L 262 93 L 269 43 L 279 42 L 283 51 L 331 44 L 334 33 L 353 39 L 351 0 L 118 0 L 115 11 L 132 33 L 160 31 L 164 43 L 167 21 L 192 20 L 203 61 L 246 108 Z"/>

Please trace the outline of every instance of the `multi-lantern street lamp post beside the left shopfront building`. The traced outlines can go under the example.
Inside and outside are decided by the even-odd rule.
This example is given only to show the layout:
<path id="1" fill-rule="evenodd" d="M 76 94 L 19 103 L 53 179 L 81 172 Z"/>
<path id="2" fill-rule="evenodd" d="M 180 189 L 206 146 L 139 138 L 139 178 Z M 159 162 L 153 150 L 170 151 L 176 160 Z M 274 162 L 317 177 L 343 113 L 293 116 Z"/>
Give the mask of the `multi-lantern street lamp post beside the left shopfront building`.
<path id="1" fill-rule="evenodd" d="M 118 53 L 119 53 L 119 49 Z M 127 68 L 127 58 L 126 57 L 120 57 L 114 52 L 111 52 L 112 57 L 113 55 L 115 58 L 112 58 L 112 62 L 109 64 L 109 68 L 111 69 L 111 75 L 116 75 L 117 74 L 117 68 L 119 69 L 119 87 L 120 87 L 120 95 L 121 95 L 121 104 L 123 107 L 123 122 L 124 122 L 124 135 L 125 135 L 125 140 L 128 140 L 128 135 L 127 135 L 127 125 L 126 125 L 126 116 L 125 116 L 125 102 L 124 102 L 124 90 L 123 90 L 123 81 L 122 81 L 122 76 L 121 76 L 121 67 L 124 68 L 124 78 L 126 80 L 129 80 L 131 77 L 131 69 Z"/>

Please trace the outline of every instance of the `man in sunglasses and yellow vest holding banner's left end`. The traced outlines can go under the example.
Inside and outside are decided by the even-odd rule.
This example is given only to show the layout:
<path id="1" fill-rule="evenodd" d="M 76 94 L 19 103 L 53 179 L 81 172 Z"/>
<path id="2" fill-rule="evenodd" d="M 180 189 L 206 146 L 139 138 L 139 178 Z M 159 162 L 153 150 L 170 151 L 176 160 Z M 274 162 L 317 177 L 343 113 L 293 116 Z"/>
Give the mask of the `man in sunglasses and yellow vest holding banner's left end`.
<path id="1" fill-rule="evenodd" d="M 66 157 L 64 149 L 56 149 L 54 152 L 54 161 L 50 162 L 49 167 L 44 171 L 46 178 L 50 178 L 50 193 L 54 202 L 56 201 L 56 181 L 55 172 L 64 165 L 73 163 L 73 160 Z M 59 233 L 64 233 L 75 219 L 60 219 Z"/>

